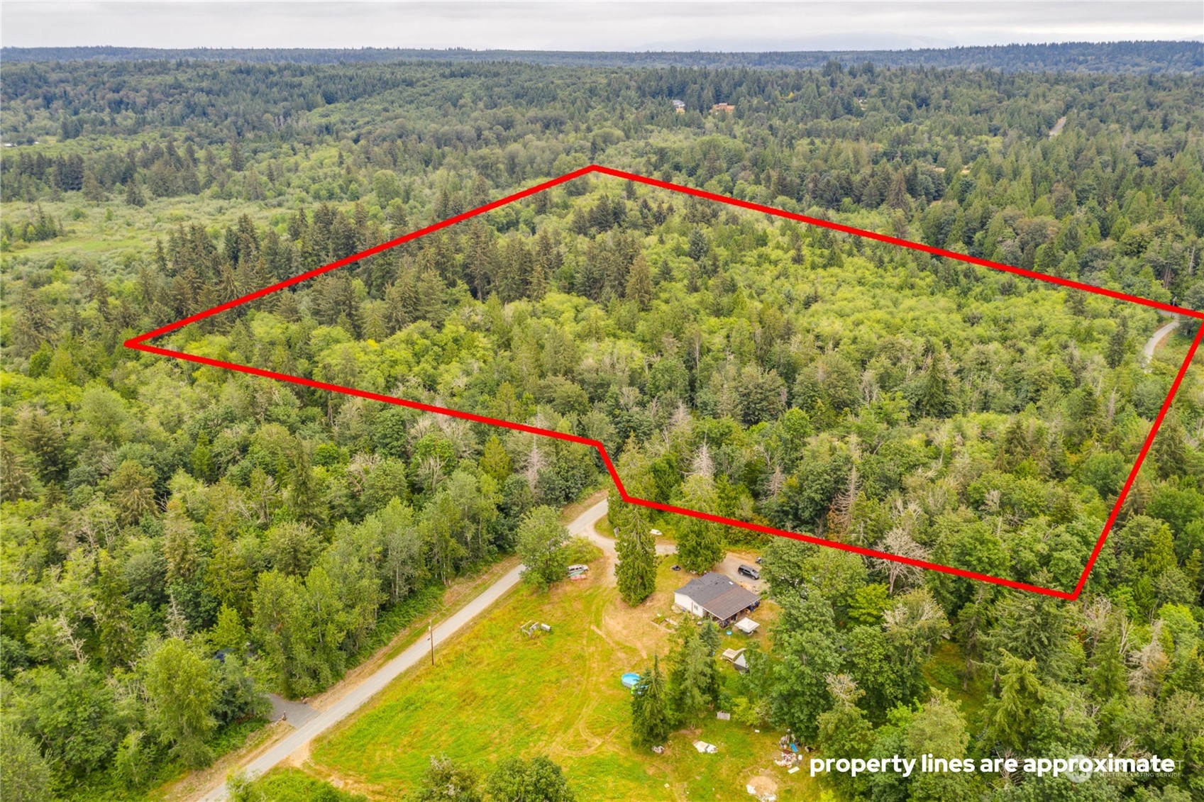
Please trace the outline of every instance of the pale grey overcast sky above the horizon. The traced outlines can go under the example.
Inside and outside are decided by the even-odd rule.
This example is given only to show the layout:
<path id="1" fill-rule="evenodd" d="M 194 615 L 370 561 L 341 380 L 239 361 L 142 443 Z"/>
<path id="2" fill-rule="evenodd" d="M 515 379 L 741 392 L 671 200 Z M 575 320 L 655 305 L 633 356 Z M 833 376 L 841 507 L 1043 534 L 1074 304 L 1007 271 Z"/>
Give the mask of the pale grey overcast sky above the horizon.
<path id="1" fill-rule="evenodd" d="M 6 46 L 897 49 L 1204 37 L 1204 2 L 24 2 Z"/>

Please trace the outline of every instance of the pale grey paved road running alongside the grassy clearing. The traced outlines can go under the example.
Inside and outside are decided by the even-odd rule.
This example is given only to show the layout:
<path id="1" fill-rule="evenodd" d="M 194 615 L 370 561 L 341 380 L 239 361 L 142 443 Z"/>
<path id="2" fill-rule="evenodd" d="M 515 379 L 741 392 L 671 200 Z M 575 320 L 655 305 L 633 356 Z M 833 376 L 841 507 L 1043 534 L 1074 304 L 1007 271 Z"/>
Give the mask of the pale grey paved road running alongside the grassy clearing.
<path id="1" fill-rule="evenodd" d="M 604 515 L 606 511 L 607 502 L 604 500 L 601 503 L 594 505 L 568 524 L 569 533 L 592 533 L 594 521 Z M 614 547 L 612 544 L 612 552 L 613 548 Z M 523 566 L 519 566 L 508 572 L 501 579 L 486 588 L 484 592 L 468 602 L 462 609 L 452 615 L 452 618 L 436 625 L 433 631 L 435 645 L 439 645 L 459 632 L 473 618 L 489 609 L 494 602 L 513 589 L 514 585 L 519 583 L 521 570 Z M 319 712 L 317 715 L 301 724 L 300 727 L 285 736 L 282 741 L 272 744 L 267 751 L 246 763 L 243 768 L 249 777 L 259 777 L 260 774 L 275 768 L 277 765 L 287 760 L 289 755 L 305 747 L 305 744 L 309 741 L 317 738 L 335 724 L 342 721 L 344 718 L 366 704 L 373 696 L 384 690 L 385 685 L 400 677 L 407 670 L 413 668 L 424 660 L 429 660 L 430 651 L 430 641 L 426 638 L 419 639 L 408 649 L 378 668 L 376 673 L 368 674 L 364 682 L 352 689 L 341 700 L 331 704 L 327 709 Z M 217 788 L 209 789 L 209 791 L 201 798 L 206 801 L 225 800 L 225 782 Z"/>

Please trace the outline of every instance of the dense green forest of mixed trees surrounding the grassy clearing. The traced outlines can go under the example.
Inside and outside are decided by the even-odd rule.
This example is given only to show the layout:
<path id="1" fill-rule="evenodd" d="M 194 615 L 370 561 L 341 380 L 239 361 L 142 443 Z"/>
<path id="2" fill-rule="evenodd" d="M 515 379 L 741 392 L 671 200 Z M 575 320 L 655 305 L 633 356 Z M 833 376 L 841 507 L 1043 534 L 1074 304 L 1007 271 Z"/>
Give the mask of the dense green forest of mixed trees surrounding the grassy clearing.
<path id="1" fill-rule="evenodd" d="M 919 69 L 5 63 L 6 789 L 137 797 L 313 694 L 596 453 L 138 354 L 142 331 L 591 161 L 1204 308 L 1200 79 Z M 677 113 L 672 100 L 684 101 Z M 713 112 L 727 102 L 733 112 Z M 601 440 L 643 497 L 1073 586 L 1196 328 L 583 178 L 158 344 Z M 1064 602 L 612 506 L 766 552 L 754 721 L 842 754 L 1147 754 L 1204 792 L 1204 382 Z M 624 543 L 638 602 L 645 547 Z M 923 671 L 958 656 L 933 696 Z M 220 655 L 220 659 L 214 659 Z M 943 664 L 944 665 L 944 664 Z M 8 794 L 8 790 L 6 790 Z M 1061 796 L 1057 796 L 1061 795 Z"/>

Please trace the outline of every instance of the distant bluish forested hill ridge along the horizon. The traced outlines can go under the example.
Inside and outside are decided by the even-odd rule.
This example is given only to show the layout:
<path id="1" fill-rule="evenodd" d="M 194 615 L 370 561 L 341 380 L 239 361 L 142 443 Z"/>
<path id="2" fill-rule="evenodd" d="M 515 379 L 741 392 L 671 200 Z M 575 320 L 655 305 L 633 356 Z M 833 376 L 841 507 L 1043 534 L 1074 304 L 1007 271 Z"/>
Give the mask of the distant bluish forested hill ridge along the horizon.
<path id="1" fill-rule="evenodd" d="M 1181 42 L 1064 42 L 1055 45 L 999 45 L 913 51 L 796 51 L 777 53 L 615 53 L 573 51 L 470 49 L 305 49 L 305 48 L 193 48 L 150 47 L 5 47 L 4 61 L 130 61 L 199 59 L 214 61 L 348 64 L 365 61 L 524 61 L 549 66 L 746 66 L 761 69 L 814 69 L 831 60 L 844 64 L 872 61 L 880 66 L 933 66 L 1007 72 L 1204 72 L 1204 43 Z"/>

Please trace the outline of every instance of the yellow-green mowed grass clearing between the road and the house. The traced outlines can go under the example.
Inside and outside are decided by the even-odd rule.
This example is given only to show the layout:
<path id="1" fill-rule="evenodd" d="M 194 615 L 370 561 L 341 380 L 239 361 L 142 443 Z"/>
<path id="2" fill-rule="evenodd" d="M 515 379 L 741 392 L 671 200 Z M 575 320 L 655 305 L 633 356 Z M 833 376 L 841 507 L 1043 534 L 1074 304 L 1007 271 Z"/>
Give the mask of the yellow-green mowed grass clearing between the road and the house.
<path id="1" fill-rule="evenodd" d="M 520 588 L 503 600 L 444 647 L 436 667 L 401 677 L 315 742 L 308 768 L 372 798 L 397 798 L 431 755 L 484 772 L 509 755 L 547 754 L 582 800 L 743 798 L 755 776 L 772 778 L 780 800 L 818 798 L 805 771 L 774 766 L 775 731 L 712 718 L 674 733 L 663 755 L 631 747 L 631 696 L 619 678 L 672 648 L 673 635 L 654 619 L 669 612 L 672 589 L 687 577 L 662 561 L 657 592 L 632 609 L 607 584 L 607 564 L 592 565 L 588 582 L 560 583 L 547 595 Z M 519 627 L 530 620 L 551 632 L 529 639 Z M 698 754 L 700 738 L 719 753 Z"/>

